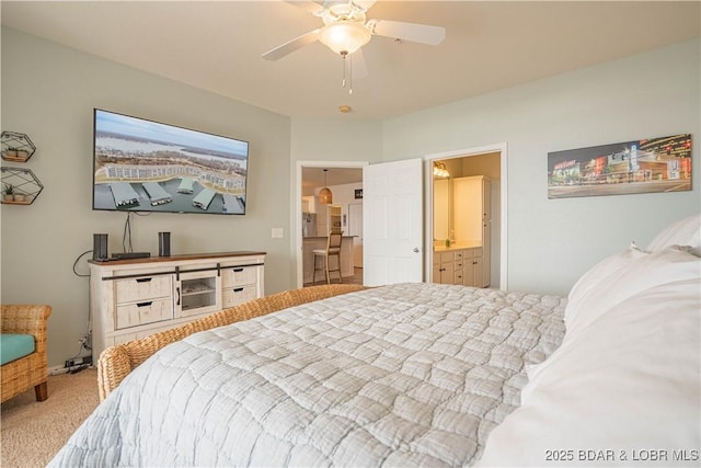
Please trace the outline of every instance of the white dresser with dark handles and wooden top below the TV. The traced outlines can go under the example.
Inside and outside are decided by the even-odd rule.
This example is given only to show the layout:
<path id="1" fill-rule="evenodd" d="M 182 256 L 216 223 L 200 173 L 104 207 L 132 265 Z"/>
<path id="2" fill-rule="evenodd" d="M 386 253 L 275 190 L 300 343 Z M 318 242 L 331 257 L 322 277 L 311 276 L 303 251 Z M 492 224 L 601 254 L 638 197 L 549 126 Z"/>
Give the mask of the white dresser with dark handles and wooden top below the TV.
<path id="1" fill-rule="evenodd" d="M 265 252 L 89 264 L 93 361 L 108 346 L 264 296 Z"/>

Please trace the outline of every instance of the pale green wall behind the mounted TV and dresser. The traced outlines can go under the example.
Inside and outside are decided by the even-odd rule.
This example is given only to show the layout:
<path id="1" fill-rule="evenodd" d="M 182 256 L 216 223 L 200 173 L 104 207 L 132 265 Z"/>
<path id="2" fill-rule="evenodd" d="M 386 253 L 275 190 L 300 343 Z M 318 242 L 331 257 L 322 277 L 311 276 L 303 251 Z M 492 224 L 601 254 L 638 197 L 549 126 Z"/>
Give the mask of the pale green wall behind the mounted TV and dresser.
<path id="1" fill-rule="evenodd" d="M 92 250 L 93 232 L 107 232 L 110 251 L 122 251 L 126 215 L 91 209 L 93 107 L 249 140 L 245 216 L 133 216 L 134 250 L 156 254 L 157 232 L 171 231 L 173 253 L 265 251 L 266 293 L 290 287 L 289 117 L 11 28 L 1 46 L 2 129 L 37 147 L 26 164 L 7 165 L 28 168 L 44 184 L 33 205 L 0 208 L 1 300 L 53 306 L 49 366 L 73 356 L 87 330 L 88 278 L 73 274 L 73 262 Z M 271 238 L 276 227 L 285 238 Z"/>

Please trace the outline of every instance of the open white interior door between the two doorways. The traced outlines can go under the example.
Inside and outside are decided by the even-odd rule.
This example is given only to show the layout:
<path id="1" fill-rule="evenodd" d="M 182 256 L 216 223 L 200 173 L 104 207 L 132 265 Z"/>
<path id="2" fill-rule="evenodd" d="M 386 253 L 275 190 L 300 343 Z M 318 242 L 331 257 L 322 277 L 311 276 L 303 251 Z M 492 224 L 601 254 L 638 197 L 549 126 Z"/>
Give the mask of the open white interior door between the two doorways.
<path id="1" fill-rule="evenodd" d="M 363 284 L 423 279 L 422 160 L 363 168 Z"/>

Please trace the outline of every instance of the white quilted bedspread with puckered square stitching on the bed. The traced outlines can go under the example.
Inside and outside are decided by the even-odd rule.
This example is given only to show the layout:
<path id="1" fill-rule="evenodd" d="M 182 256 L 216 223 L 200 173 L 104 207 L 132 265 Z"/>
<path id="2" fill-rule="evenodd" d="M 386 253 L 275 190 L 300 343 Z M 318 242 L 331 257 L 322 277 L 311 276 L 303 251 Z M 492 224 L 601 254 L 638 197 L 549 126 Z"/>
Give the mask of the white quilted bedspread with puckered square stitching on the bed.
<path id="1" fill-rule="evenodd" d="M 51 466 L 466 466 L 564 334 L 564 299 L 401 284 L 194 334 Z"/>

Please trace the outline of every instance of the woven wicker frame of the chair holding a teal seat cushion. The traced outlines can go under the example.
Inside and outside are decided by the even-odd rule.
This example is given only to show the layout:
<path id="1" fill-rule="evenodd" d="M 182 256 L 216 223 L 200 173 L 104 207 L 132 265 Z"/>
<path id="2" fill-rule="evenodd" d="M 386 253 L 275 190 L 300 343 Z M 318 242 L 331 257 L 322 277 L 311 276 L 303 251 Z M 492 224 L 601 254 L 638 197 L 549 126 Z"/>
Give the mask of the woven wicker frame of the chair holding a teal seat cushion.
<path id="1" fill-rule="evenodd" d="M 2 333 L 34 335 L 32 354 L 0 367 L 2 400 L 25 392 L 34 387 L 36 401 L 48 398 L 48 365 L 46 359 L 46 324 L 51 315 L 50 306 L 3 305 L 1 307 Z"/>

